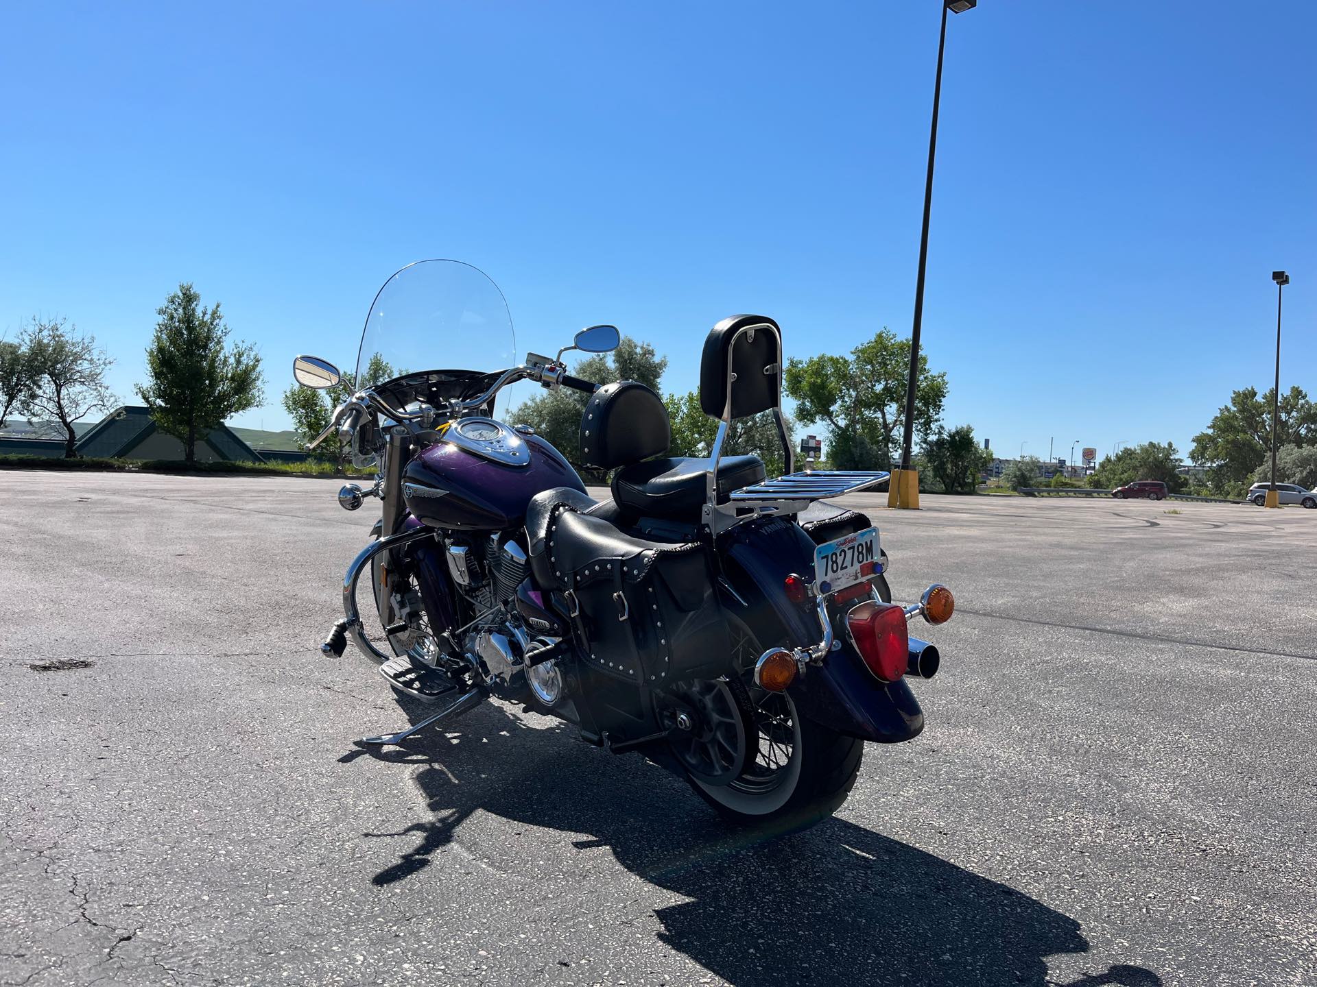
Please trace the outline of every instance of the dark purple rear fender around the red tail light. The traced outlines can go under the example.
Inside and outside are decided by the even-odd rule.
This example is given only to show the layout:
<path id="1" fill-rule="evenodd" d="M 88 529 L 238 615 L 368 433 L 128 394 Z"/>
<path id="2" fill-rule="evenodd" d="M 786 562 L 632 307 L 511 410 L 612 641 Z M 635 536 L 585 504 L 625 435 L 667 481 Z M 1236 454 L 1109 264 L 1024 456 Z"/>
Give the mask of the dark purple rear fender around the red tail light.
<path id="1" fill-rule="evenodd" d="M 735 607 L 765 646 L 817 645 L 823 632 L 811 605 L 786 596 L 786 576 L 809 578 L 814 542 L 785 519 L 736 525 L 720 544 Z M 923 729 L 923 711 L 903 679 L 881 683 L 844 636 L 822 665 L 810 665 L 789 688 L 795 708 L 830 729 L 878 744 L 897 744 Z"/>

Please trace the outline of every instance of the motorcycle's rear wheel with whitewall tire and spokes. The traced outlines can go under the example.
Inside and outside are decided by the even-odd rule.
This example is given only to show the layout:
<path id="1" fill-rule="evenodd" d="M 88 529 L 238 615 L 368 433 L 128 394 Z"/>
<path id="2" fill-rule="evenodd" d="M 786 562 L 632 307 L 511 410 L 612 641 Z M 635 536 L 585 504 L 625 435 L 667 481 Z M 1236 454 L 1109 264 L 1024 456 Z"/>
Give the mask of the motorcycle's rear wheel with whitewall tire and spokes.
<path id="1" fill-rule="evenodd" d="M 738 825 L 781 830 L 814 825 L 846 801 L 860 771 L 864 742 L 802 717 L 790 694 L 756 686 L 755 662 L 764 649 L 739 621 L 731 630 L 741 671 L 716 683 L 687 683 L 680 692 L 687 701 L 715 696 L 711 713 L 695 707 L 705 720 L 697 729 L 709 724 L 715 729 L 673 741 L 686 780 Z M 701 747 L 703 755 L 697 754 Z M 707 766 L 715 763 L 724 772 L 735 770 L 735 776 L 710 774 Z"/>

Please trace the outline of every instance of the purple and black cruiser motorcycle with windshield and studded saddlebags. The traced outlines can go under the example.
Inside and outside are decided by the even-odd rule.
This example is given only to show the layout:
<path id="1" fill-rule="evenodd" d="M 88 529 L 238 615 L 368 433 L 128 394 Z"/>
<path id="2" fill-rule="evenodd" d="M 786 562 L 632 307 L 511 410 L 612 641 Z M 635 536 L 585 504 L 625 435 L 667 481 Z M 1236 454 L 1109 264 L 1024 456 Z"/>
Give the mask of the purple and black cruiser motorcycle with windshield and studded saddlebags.
<path id="1" fill-rule="evenodd" d="M 827 503 L 886 472 L 795 470 L 772 318 L 732 316 L 705 341 L 699 400 L 719 424 L 703 458 L 668 455 L 668 415 L 644 384 L 566 372 L 565 353 L 618 343 L 615 326 L 594 325 L 553 357 L 456 368 L 515 362 L 507 303 L 478 268 L 423 261 L 379 290 L 350 379 L 296 358 L 299 384 L 354 391 L 308 449 L 337 433 L 378 470 L 369 490 L 338 494 L 349 511 L 378 499 L 381 517 L 321 651 L 352 642 L 400 696 L 440 707 L 361 744 L 402 744 L 497 699 L 645 755 L 734 822 L 815 822 L 846 800 L 865 742 L 923 729 L 909 682 L 931 679 L 940 658 L 907 621 L 948 620 L 952 594 L 934 584 L 892 603 L 877 528 Z M 407 368 L 432 366 L 431 351 L 454 368 Z M 611 499 L 498 417 L 518 382 L 586 396 L 578 462 L 611 475 Z M 765 411 L 782 476 L 723 454 L 731 424 Z M 370 633 L 357 603 L 367 572 Z"/>

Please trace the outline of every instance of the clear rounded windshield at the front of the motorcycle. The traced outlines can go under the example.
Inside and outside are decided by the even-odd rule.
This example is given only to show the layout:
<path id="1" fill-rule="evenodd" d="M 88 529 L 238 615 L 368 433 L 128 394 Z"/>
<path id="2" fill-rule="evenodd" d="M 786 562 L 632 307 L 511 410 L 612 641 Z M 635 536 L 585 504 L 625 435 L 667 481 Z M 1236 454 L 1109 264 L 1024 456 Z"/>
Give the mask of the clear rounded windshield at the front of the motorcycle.
<path id="1" fill-rule="evenodd" d="M 485 374 L 518 362 L 512 317 L 498 286 L 461 261 L 417 261 L 375 295 L 361 333 L 356 383 L 366 387 L 423 370 Z"/>

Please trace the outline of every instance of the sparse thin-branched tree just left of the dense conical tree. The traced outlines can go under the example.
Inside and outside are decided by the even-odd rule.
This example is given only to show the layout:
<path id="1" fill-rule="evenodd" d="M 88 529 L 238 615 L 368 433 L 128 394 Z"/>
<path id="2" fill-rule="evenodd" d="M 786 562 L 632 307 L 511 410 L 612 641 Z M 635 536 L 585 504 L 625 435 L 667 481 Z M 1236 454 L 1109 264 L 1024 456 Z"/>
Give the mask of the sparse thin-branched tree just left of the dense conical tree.
<path id="1" fill-rule="evenodd" d="M 65 458 L 74 459 L 74 422 L 94 411 L 107 412 L 115 403 L 105 384 L 115 361 L 96 349 L 95 337 L 79 336 L 76 326 L 66 332 L 65 321 L 34 318 L 24 332 L 21 349 L 28 354 L 32 382 L 21 408 L 29 417 L 58 421 L 65 429 Z"/>

